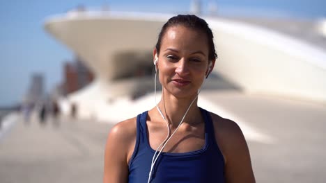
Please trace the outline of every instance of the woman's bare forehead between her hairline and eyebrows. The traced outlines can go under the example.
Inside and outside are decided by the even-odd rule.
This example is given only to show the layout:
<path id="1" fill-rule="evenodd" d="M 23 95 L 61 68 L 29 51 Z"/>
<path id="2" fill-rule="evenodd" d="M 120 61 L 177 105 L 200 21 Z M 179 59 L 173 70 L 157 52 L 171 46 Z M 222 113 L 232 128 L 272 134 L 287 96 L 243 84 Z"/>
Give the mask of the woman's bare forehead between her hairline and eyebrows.
<path id="1" fill-rule="evenodd" d="M 171 26 L 162 37 L 162 46 L 198 46 L 208 50 L 208 37 L 203 30 Z"/>

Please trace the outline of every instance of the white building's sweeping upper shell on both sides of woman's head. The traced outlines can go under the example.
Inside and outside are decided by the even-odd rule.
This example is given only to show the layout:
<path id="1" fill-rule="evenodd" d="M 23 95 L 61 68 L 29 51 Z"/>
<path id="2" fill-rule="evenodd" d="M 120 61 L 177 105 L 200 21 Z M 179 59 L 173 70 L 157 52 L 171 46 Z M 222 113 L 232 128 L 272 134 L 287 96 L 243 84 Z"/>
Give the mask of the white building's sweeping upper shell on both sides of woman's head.
<path id="1" fill-rule="evenodd" d="M 70 12 L 45 28 L 79 55 L 99 80 L 125 76 L 153 64 L 162 24 L 172 15 L 125 12 Z M 270 29 L 205 17 L 215 35 L 215 72 L 247 92 L 326 103 L 324 50 Z"/>

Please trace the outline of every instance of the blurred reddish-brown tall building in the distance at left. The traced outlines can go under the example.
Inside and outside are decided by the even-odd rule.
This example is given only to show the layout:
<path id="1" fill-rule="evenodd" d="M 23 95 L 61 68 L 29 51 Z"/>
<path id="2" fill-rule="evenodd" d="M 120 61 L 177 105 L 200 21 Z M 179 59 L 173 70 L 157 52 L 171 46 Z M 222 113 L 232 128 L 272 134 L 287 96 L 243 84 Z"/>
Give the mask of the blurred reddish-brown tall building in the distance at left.
<path id="1" fill-rule="evenodd" d="M 63 90 L 65 95 L 85 87 L 94 78 L 93 73 L 85 67 L 80 58 L 76 58 L 74 62 L 66 62 L 63 70 Z"/>

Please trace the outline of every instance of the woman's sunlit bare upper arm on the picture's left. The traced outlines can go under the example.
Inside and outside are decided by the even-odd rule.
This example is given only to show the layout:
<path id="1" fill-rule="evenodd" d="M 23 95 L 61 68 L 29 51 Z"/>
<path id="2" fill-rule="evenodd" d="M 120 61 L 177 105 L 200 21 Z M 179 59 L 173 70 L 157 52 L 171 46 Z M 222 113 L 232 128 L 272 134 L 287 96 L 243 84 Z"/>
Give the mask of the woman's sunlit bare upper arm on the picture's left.
<path id="1" fill-rule="evenodd" d="M 104 152 L 104 183 L 120 183 L 128 180 L 127 157 L 136 137 L 136 130 L 130 123 L 132 121 L 118 123 L 107 137 Z"/>

